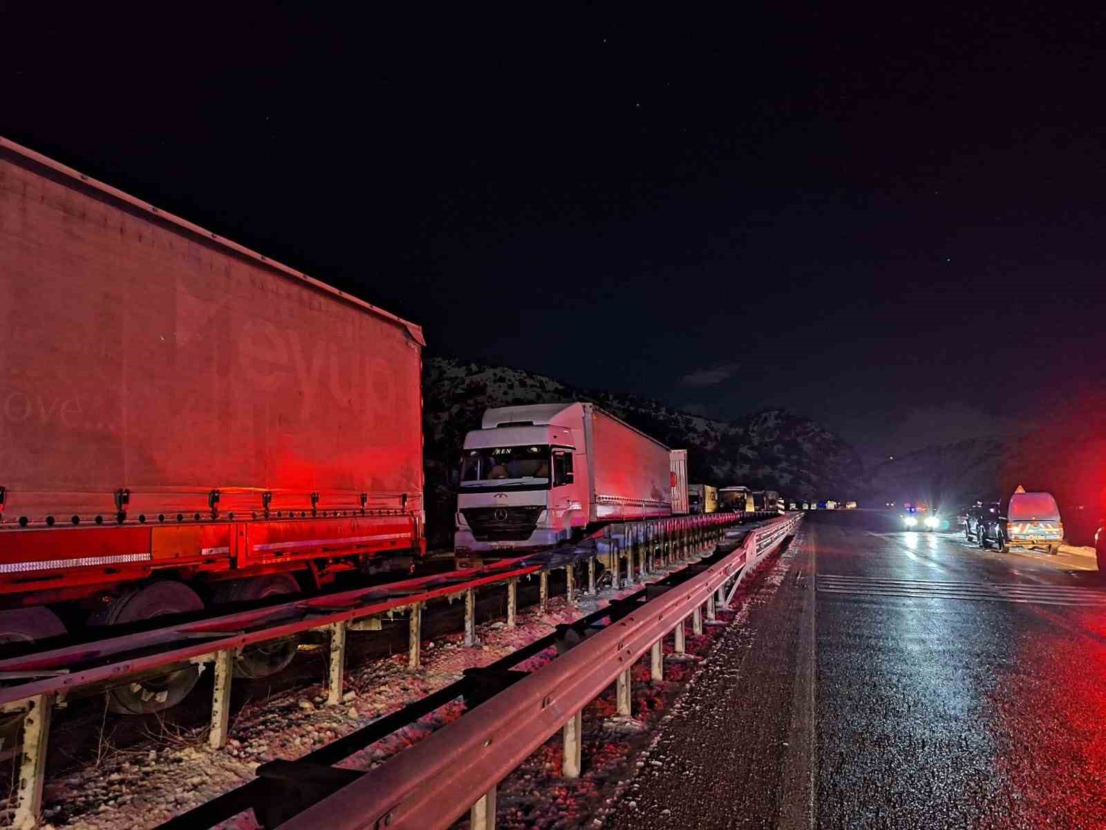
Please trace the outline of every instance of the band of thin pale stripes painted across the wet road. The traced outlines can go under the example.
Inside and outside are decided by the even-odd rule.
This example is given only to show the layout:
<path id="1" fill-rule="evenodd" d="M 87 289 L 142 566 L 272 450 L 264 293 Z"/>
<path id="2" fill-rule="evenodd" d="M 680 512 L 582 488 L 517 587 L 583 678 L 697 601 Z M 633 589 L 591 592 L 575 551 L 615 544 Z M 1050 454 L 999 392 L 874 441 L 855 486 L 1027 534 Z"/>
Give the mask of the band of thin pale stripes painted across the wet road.
<path id="1" fill-rule="evenodd" d="M 1106 591 L 1077 585 L 997 582 L 935 582 L 932 580 L 817 574 L 823 593 L 902 596 L 922 600 L 973 600 L 1040 605 L 1106 606 Z"/>

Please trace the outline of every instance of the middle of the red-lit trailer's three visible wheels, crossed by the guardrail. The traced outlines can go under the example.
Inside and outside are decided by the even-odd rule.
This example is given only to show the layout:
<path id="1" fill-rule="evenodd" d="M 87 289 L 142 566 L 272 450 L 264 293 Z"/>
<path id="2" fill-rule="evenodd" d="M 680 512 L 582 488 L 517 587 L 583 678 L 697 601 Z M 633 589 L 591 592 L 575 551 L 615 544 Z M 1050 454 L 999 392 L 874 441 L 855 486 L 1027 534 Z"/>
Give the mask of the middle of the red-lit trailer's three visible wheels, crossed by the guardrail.
<path id="1" fill-rule="evenodd" d="M 116 596 L 88 620 L 92 625 L 121 625 L 157 616 L 200 611 L 204 602 L 182 582 L 152 582 Z M 116 686 L 107 692 L 107 708 L 121 715 L 146 715 L 180 703 L 199 679 L 198 666 L 189 665 L 157 677 Z"/>

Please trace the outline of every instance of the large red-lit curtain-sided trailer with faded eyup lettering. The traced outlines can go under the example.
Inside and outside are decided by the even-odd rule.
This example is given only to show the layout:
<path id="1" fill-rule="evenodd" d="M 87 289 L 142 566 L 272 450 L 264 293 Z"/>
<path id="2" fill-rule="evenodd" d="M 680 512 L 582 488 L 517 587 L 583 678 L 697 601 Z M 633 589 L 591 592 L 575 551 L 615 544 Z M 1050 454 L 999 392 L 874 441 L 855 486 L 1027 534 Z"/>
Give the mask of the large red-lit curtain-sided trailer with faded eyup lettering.
<path id="1" fill-rule="evenodd" d="M 425 552 L 422 345 L 417 325 L 0 138 L 0 642 Z M 239 673 L 294 647 L 248 652 Z M 184 671 L 113 706 L 171 705 Z"/>

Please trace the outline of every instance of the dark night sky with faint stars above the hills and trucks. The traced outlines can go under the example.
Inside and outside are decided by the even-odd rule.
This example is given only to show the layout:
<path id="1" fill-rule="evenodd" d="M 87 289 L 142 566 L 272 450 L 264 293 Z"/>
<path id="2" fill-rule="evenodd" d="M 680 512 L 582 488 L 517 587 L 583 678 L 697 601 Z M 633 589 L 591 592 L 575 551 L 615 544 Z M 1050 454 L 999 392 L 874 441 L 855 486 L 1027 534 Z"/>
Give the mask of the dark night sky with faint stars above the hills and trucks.
<path id="1" fill-rule="evenodd" d="M 868 456 L 1100 384 L 1103 19 L 775 6 L 12 6 L 0 134 L 437 353 Z"/>

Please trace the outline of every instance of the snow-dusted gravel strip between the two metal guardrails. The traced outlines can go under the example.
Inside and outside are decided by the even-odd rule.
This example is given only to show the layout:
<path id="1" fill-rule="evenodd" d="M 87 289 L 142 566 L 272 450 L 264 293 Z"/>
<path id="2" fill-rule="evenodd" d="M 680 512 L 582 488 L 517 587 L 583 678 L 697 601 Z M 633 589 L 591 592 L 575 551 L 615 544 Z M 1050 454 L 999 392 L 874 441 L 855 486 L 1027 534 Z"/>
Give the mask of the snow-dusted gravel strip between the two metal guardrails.
<path id="1" fill-rule="evenodd" d="M 252 780 L 259 765 L 274 759 L 294 760 L 319 747 L 460 679 L 466 668 L 484 666 L 553 632 L 559 623 L 573 622 L 625 596 L 639 587 L 598 598 L 581 596 L 575 605 L 551 598 L 549 611 L 520 610 L 518 626 L 502 621 L 478 626 L 481 645 L 466 647 L 458 632 L 422 643 L 422 667 L 407 670 L 407 653 L 347 666 L 345 694 L 328 707 L 321 684 L 250 702 L 232 715 L 227 749 L 207 747 L 207 729 L 180 730 L 169 722 L 144 744 L 115 750 L 105 741 L 98 761 L 56 780 L 48 780 L 43 795 L 45 828 L 61 830 L 143 830 L 210 801 Z M 555 656 L 553 649 L 515 668 L 533 670 Z M 365 748 L 343 761 L 352 769 L 372 769 L 379 762 L 459 717 L 463 704 L 455 701 L 415 724 Z M 0 812 L 0 827 L 10 812 Z M 219 827 L 257 828 L 252 811 Z M 45 828 L 43 830 L 45 830 Z"/>

